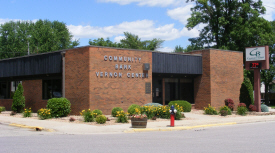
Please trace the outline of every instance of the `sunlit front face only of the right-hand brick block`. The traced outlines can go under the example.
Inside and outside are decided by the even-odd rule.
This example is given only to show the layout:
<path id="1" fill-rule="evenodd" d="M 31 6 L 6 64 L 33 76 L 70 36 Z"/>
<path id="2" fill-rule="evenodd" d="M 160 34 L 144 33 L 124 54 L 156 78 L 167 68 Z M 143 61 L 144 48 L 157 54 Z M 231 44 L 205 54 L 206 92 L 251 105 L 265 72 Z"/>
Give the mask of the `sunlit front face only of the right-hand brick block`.
<path id="1" fill-rule="evenodd" d="M 219 108 L 224 106 L 226 98 L 231 98 L 237 107 L 243 82 L 243 53 L 220 50 L 210 52 L 211 105 Z"/>

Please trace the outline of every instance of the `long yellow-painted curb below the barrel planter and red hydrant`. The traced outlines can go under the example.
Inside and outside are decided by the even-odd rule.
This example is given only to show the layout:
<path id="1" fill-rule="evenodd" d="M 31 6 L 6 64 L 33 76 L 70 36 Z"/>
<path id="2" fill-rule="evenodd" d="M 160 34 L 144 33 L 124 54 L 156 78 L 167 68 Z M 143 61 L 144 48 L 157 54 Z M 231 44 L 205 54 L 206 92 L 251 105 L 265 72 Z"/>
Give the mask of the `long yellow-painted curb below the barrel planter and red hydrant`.
<path id="1" fill-rule="evenodd" d="M 196 125 L 196 126 L 170 127 L 170 128 L 133 129 L 133 130 L 125 130 L 124 133 L 150 132 L 150 131 L 181 131 L 181 130 L 191 130 L 191 129 L 195 129 L 195 128 L 202 128 L 202 127 L 214 127 L 214 126 L 234 125 L 234 124 L 237 124 L 237 122 L 219 123 L 219 124 L 206 124 L 206 125 Z"/>

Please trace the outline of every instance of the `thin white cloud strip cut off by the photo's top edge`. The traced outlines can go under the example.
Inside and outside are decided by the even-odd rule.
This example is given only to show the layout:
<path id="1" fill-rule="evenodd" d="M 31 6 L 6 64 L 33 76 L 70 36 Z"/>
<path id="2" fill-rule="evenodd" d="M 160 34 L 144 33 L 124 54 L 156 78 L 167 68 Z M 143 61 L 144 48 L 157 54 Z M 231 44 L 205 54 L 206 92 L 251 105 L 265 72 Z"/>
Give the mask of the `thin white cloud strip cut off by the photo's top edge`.
<path id="1" fill-rule="evenodd" d="M 185 1 L 182 0 L 98 0 L 99 2 L 105 3 L 118 3 L 120 5 L 127 5 L 131 3 L 137 3 L 140 6 L 160 6 L 166 7 L 169 5 L 180 5 L 184 4 Z"/>

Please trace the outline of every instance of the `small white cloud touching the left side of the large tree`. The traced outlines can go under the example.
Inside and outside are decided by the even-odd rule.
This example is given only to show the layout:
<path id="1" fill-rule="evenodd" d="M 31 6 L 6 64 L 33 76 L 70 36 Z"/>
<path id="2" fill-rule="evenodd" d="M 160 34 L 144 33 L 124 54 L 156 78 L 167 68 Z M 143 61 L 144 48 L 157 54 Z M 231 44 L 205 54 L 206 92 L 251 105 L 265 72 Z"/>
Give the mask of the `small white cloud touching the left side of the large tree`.
<path id="1" fill-rule="evenodd" d="M 179 20 L 183 25 L 187 23 L 187 19 L 191 17 L 191 8 L 194 7 L 194 5 L 189 4 L 183 7 L 178 7 L 172 10 L 168 10 L 167 14 L 172 19 Z"/>

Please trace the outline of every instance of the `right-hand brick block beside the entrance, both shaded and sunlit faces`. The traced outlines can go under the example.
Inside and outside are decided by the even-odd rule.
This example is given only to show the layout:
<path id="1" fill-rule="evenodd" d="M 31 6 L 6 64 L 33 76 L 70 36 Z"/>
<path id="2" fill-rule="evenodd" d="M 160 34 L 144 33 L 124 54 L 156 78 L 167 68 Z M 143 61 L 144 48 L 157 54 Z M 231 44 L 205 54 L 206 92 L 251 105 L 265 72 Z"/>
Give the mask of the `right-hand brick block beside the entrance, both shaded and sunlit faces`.
<path id="1" fill-rule="evenodd" d="M 195 108 L 211 104 L 218 109 L 226 98 L 233 99 L 237 106 L 243 81 L 243 53 L 207 49 L 188 54 L 201 54 L 203 62 L 203 74 L 194 79 Z"/>

